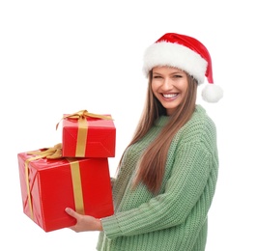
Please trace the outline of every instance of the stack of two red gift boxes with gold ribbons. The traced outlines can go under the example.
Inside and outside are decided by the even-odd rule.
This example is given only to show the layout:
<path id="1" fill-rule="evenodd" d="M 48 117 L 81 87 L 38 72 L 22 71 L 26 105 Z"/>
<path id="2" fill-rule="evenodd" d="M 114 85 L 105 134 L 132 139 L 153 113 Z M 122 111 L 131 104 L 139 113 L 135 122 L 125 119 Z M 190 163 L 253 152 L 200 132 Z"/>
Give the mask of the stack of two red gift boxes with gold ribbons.
<path id="1" fill-rule="evenodd" d="M 115 156 L 115 141 L 110 115 L 64 115 L 62 143 L 17 154 L 23 212 L 45 232 L 75 224 L 68 207 L 97 218 L 112 215 L 108 157 Z"/>

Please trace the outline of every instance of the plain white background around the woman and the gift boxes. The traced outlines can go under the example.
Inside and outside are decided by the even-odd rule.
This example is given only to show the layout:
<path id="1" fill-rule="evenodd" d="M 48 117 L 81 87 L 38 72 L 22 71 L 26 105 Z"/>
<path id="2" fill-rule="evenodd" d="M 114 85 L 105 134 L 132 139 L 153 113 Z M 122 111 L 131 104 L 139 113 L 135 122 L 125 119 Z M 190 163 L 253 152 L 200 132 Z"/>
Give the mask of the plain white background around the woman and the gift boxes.
<path id="1" fill-rule="evenodd" d="M 220 158 L 207 251 L 256 250 L 255 23 L 248 0 L 2 0 L 0 250 L 95 250 L 98 233 L 44 233 L 23 214 L 16 154 L 60 142 L 64 113 L 110 113 L 114 174 L 144 103 L 144 50 L 167 32 L 207 45 L 224 90 L 216 104 L 198 95 L 217 126 Z"/>

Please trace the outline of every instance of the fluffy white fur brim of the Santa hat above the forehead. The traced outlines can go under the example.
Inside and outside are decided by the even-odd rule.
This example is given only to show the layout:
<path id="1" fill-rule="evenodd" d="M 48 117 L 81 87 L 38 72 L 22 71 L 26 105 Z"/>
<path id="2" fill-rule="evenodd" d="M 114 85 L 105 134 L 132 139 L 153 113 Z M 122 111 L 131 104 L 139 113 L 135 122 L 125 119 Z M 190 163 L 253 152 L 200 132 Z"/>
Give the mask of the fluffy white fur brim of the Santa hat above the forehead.
<path id="1" fill-rule="evenodd" d="M 207 61 L 198 53 L 184 45 L 172 42 L 156 42 L 144 54 L 143 70 L 146 76 L 155 67 L 174 67 L 185 70 L 197 79 L 198 84 L 205 80 Z"/>

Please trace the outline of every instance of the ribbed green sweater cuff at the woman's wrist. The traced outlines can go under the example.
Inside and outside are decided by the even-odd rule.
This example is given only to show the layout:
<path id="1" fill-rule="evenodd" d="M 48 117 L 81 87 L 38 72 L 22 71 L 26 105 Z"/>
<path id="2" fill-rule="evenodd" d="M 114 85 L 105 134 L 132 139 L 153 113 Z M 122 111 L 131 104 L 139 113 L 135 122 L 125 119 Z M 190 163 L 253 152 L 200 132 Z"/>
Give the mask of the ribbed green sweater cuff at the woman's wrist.
<path id="1" fill-rule="evenodd" d="M 101 224 L 106 237 L 113 239 L 120 236 L 121 229 L 115 215 L 101 218 Z"/>

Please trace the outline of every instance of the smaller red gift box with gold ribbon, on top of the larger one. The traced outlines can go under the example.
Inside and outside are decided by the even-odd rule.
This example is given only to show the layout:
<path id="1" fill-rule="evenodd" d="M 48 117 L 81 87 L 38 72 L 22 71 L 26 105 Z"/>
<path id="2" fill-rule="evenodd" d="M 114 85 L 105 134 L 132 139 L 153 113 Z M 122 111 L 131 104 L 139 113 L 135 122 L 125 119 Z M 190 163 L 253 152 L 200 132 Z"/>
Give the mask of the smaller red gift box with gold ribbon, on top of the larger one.
<path id="1" fill-rule="evenodd" d="M 96 115 L 86 110 L 64 115 L 62 124 L 63 156 L 115 156 L 116 128 L 110 115 Z"/>

